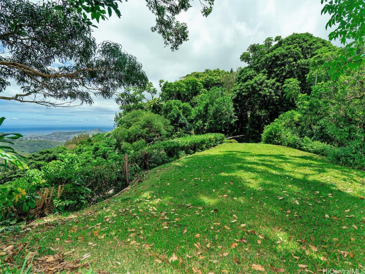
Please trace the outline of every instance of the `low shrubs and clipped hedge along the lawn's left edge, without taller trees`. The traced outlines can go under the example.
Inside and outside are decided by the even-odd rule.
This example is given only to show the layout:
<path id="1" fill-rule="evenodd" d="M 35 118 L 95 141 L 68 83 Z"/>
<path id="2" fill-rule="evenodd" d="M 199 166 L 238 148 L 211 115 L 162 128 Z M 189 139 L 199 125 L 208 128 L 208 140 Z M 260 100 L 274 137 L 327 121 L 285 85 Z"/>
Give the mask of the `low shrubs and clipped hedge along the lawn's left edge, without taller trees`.
<path id="1" fill-rule="evenodd" d="M 14 224 L 49 212 L 77 210 L 123 189 L 126 187 L 122 172 L 124 153 L 130 155 L 130 179 L 133 179 L 141 170 L 211 148 L 224 140 L 223 134 L 192 135 L 152 145 L 144 140 L 122 142 L 116 150 L 116 141 L 104 138 L 79 144 L 73 150 L 63 147 L 34 153 L 31 158 L 35 161 L 30 166 L 37 163 L 38 168 L 21 174 L 14 171 L 13 179 L 0 187 L 0 212 L 4 212 L 0 224 Z M 53 203 L 47 204 L 47 208 L 33 209 L 40 191 L 54 187 L 55 193 L 58 186 L 63 191 L 59 197 L 53 195 Z"/>

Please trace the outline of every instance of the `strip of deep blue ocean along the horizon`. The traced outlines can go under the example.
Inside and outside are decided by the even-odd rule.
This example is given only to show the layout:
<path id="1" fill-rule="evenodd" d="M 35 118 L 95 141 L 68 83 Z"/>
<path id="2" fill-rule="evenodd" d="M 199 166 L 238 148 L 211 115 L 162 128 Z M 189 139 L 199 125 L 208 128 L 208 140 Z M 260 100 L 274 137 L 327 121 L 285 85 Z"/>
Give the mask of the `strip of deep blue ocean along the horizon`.
<path id="1" fill-rule="evenodd" d="M 49 134 L 55 131 L 79 131 L 92 130 L 99 128 L 101 130 L 110 131 L 114 127 L 109 125 L 3 125 L 0 126 L 0 132 L 20 133 L 20 134 Z"/>

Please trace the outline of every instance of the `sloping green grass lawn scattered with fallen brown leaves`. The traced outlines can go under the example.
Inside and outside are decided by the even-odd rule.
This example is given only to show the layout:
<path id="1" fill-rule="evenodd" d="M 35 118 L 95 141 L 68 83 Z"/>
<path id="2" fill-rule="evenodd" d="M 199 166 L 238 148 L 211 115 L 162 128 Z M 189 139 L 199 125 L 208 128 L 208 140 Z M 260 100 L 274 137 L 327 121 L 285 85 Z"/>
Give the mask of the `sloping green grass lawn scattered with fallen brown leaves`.
<path id="1" fill-rule="evenodd" d="M 357 269 L 365 266 L 364 182 L 365 172 L 310 153 L 223 144 L 148 172 L 110 201 L 39 220 L 2 241 L 28 243 L 36 258 L 91 252 L 82 262 L 112 273 Z"/>

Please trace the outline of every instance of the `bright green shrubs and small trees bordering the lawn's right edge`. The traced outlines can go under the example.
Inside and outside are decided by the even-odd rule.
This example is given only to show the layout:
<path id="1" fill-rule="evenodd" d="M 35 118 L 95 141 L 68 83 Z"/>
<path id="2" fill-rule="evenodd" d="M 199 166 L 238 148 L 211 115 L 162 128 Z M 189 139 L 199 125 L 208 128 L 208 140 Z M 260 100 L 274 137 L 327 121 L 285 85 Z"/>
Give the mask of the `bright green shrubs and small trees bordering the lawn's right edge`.
<path id="1" fill-rule="evenodd" d="M 330 77 L 323 64 L 338 49 L 322 49 L 312 58 L 307 75 L 310 94 L 301 94 L 297 79 L 287 79 L 285 94 L 293 98 L 296 111 L 280 115 L 265 127 L 262 141 L 300 148 L 331 160 L 365 168 L 364 72 L 346 71 Z"/>

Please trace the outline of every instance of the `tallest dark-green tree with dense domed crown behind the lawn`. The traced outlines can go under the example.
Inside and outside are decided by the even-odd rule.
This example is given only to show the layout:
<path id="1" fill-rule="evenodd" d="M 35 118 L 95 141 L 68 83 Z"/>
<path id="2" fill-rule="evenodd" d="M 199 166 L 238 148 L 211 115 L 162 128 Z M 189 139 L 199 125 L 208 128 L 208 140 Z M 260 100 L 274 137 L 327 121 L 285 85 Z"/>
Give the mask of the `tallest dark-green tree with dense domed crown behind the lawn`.
<path id="1" fill-rule="evenodd" d="M 268 37 L 250 45 L 241 61 L 248 65 L 238 72 L 233 88 L 238 132 L 253 141 L 281 113 L 295 108 L 293 96 L 284 96 L 284 83 L 296 79 L 299 91 L 310 94 L 306 75 L 311 58 L 321 49 L 334 48 L 330 42 L 310 33 L 294 33 L 286 38 Z"/>

